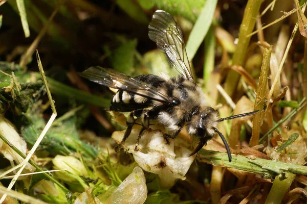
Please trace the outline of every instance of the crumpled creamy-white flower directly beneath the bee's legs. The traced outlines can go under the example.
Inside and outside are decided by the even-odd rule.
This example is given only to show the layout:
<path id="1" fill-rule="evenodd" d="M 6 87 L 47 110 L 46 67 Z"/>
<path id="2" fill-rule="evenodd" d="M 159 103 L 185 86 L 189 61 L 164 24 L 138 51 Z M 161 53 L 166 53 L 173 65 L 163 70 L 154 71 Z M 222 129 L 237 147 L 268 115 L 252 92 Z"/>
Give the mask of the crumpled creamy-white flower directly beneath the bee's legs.
<path id="1" fill-rule="evenodd" d="M 151 122 L 151 121 L 150 121 Z M 151 122 L 152 123 L 152 122 Z M 165 129 L 162 125 L 150 125 L 139 142 L 139 151 L 134 150 L 141 130 L 140 125 L 134 125 L 130 136 L 123 147 L 133 154 L 135 161 L 142 169 L 159 175 L 163 187 L 171 187 L 177 179 L 185 179 L 185 174 L 190 168 L 195 156 L 187 147 L 191 146 L 181 137 L 169 140 L 167 144 L 163 135 Z M 125 131 L 114 132 L 112 137 L 120 143 Z"/>

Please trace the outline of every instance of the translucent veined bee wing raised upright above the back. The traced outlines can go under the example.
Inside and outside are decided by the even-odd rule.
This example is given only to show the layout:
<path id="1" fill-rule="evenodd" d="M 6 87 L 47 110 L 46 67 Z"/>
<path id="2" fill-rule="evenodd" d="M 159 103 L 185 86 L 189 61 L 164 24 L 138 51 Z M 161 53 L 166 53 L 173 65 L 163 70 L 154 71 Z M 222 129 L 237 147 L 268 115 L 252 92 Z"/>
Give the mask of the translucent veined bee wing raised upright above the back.
<path id="1" fill-rule="evenodd" d="M 194 81 L 182 32 L 169 13 L 157 10 L 153 14 L 148 36 L 165 53 L 171 66 L 185 79 Z"/>

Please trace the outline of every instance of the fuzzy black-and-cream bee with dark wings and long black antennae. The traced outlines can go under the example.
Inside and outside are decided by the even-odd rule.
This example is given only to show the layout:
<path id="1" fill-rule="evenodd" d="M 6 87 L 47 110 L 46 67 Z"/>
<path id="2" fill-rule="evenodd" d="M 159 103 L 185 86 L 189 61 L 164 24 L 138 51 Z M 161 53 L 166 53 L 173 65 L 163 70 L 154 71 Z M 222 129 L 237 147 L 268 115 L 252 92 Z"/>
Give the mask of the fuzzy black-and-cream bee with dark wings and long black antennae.
<path id="1" fill-rule="evenodd" d="M 139 140 L 149 128 L 149 120 L 157 119 L 169 133 L 164 134 L 167 143 L 168 139 L 176 138 L 184 125 L 191 136 L 200 140 L 189 156 L 196 154 L 217 133 L 222 138 L 231 161 L 230 148 L 223 134 L 217 130 L 217 123 L 249 116 L 258 111 L 218 118 L 217 112 L 207 104 L 201 87 L 194 81 L 181 29 L 169 13 L 157 10 L 153 14 L 148 35 L 165 54 L 169 65 L 179 72 L 177 77 L 142 74 L 133 78 L 114 69 L 99 66 L 79 73 L 90 81 L 118 90 L 109 110 L 130 112 L 127 117 L 127 130 L 121 143 L 130 135 L 133 125 L 136 124 L 135 118 L 140 118 L 142 129 L 135 148 L 138 150 Z"/>

